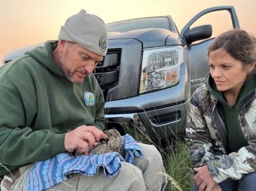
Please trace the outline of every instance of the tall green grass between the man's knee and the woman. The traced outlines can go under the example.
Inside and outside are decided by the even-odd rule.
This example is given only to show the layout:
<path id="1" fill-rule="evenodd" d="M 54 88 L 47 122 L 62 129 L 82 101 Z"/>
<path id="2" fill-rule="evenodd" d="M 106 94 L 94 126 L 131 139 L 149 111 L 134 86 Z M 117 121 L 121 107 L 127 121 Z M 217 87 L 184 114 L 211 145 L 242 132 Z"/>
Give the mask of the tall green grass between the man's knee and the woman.
<path id="1" fill-rule="evenodd" d="M 128 127 L 135 128 L 128 128 Z M 151 139 L 142 132 L 139 128 L 134 125 L 125 125 L 125 132 L 135 138 L 139 142 L 145 144 L 152 144 Z M 189 154 L 188 143 L 182 137 L 176 137 L 174 139 L 167 139 L 167 146 L 165 149 L 156 145 L 160 151 L 164 167 L 166 168 L 165 176 L 168 179 L 166 190 L 176 191 L 191 190 L 193 182 L 193 170 L 192 170 L 192 159 Z"/>

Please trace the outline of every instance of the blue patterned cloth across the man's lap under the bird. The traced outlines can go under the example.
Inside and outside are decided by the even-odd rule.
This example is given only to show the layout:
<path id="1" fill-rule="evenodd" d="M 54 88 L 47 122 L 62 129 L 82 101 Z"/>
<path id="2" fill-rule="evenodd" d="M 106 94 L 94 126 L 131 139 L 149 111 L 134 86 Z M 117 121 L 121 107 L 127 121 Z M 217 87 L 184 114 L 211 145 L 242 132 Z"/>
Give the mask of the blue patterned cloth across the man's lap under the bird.
<path id="1" fill-rule="evenodd" d="M 118 152 L 75 157 L 71 157 L 68 153 L 60 153 L 48 160 L 35 163 L 27 177 L 27 191 L 49 189 L 67 180 L 73 173 L 94 176 L 98 173 L 99 167 L 103 167 L 105 177 L 115 176 L 120 171 L 121 161 L 133 164 L 134 157 L 143 157 L 141 147 L 132 136 L 126 134 L 122 138 L 124 158 Z"/>

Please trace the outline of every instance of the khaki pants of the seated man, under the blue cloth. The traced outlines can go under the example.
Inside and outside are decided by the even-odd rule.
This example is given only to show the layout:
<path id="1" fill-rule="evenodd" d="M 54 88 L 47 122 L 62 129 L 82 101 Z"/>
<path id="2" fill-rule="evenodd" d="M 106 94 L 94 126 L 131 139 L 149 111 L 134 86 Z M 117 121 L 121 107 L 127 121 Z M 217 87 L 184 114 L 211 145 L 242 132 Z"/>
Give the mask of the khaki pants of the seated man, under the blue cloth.
<path id="1" fill-rule="evenodd" d="M 165 173 L 160 153 L 153 145 L 139 144 L 139 146 L 142 148 L 143 158 L 135 157 L 133 165 L 121 162 L 121 170 L 113 178 L 106 178 L 102 170 L 95 176 L 73 174 L 70 179 L 48 190 L 164 190 L 166 177 L 158 174 L 158 172 Z M 21 176 L 11 189 L 5 187 L 2 181 L 1 190 L 26 190 L 27 174 L 31 166 L 32 164 L 20 168 Z"/>

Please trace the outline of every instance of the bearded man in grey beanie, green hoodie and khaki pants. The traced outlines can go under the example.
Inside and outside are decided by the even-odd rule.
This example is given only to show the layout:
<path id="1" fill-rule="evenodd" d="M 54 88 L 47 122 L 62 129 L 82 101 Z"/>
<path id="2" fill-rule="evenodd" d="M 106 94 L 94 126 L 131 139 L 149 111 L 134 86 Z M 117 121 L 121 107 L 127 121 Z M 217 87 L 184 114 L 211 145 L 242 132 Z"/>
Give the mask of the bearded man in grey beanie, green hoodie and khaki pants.
<path id="1" fill-rule="evenodd" d="M 107 53 L 104 21 L 81 10 L 68 18 L 58 39 L 0 69 L 1 190 L 26 190 L 36 162 L 61 152 L 87 155 L 108 138 L 102 132 L 104 97 L 92 74 Z M 139 145 L 143 158 L 134 165 L 121 162 L 117 176 L 74 174 L 49 190 L 164 189 L 161 155 L 152 145 Z"/>

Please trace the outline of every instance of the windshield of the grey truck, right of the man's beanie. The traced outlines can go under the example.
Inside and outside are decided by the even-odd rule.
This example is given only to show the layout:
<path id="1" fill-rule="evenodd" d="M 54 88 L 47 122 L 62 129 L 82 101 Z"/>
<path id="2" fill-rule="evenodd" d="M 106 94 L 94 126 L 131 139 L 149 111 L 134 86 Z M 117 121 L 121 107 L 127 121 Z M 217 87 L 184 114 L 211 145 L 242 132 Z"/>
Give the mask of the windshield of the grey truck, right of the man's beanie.
<path id="1" fill-rule="evenodd" d="M 167 17 L 138 18 L 106 24 L 108 32 L 125 33 L 144 28 L 164 28 L 170 30 Z"/>

